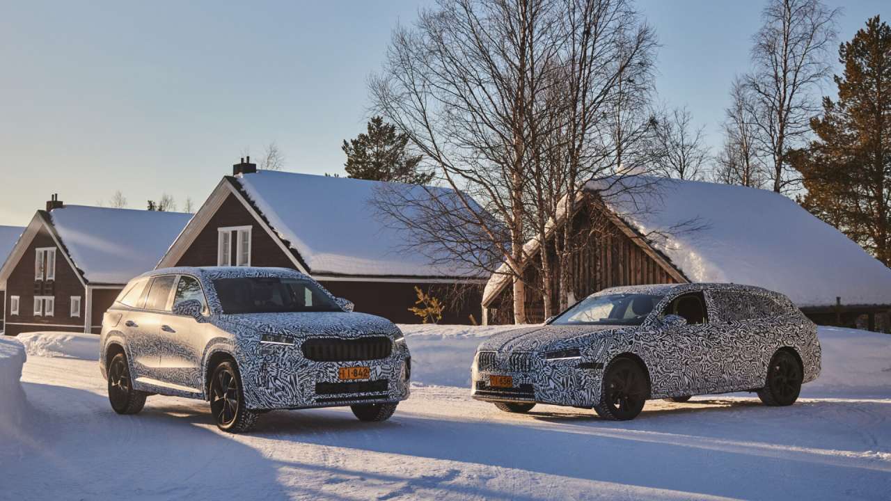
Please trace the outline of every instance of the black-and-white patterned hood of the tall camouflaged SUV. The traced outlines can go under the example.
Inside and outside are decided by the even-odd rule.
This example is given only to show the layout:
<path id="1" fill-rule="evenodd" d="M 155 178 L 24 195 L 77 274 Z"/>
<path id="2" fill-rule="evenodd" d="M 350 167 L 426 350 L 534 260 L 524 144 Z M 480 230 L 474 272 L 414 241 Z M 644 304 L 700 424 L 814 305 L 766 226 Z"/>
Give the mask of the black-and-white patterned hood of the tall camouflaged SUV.
<path id="1" fill-rule="evenodd" d="M 217 327 L 234 333 L 274 333 L 294 338 L 317 336 L 360 337 L 369 334 L 394 335 L 399 329 L 380 316 L 366 313 L 323 311 L 306 313 L 243 313 L 220 315 L 212 320 Z"/>

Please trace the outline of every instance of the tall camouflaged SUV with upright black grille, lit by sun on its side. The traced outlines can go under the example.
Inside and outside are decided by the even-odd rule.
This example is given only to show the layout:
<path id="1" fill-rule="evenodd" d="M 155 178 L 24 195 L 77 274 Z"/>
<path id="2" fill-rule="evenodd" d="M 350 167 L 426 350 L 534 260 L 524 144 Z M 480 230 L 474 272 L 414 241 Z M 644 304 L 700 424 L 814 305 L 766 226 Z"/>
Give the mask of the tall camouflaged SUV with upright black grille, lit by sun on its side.
<path id="1" fill-rule="evenodd" d="M 202 398 L 217 426 L 247 431 L 273 409 L 349 406 L 383 421 L 408 398 L 411 357 L 387 319 L 354 313 L 284 268 L 180 267 L 136 277 L 102 320 L 111 407 Z"/>

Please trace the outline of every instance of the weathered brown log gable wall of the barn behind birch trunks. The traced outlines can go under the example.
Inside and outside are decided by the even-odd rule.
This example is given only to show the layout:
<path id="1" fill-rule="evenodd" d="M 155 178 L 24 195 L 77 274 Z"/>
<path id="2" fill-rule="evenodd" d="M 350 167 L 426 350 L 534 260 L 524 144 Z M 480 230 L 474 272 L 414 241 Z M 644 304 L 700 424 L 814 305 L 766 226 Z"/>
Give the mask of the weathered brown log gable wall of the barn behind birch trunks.
<path id="1" fill-rule="evenodd" d="M 592 207 L 585 207 L 572 220 L 574 243 L 577 251 L 570 260 L 569 275 L 572 277 L 569 298 L 570 304 L 585 296 L 609 287 L 622 285 L 642 285 L 647 283 L 677 283 L 672 275 L 652 259 L 637 243 L 623 233 L 609 218 Z M 545 246 L 548 262 L 552 268 L 552 304 L 559 313 L 559 263 L 556 259 L 554 242 Z M 527 322 L 544 322 L 544 300 L 542 300 L 542 279 L 540 254 L 535 254 L 535 265 L 523 272 L 526 287 Z M 510 285 L 489 304 L 489 324 L 513 323 L 513 290 Z"/>

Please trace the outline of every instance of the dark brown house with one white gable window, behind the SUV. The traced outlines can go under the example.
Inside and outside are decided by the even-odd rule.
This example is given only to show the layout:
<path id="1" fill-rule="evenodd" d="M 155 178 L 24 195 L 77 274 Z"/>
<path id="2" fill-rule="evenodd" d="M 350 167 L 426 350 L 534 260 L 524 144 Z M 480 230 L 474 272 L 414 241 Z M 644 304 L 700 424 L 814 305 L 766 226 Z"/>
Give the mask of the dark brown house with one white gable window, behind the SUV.
<path id="1" fill-rule="evenodd" d="M 446 301 L 444 324 L 480 321 L 478 270 L 430 266 L 407 252 L 405 234 L 375 212 L 378 181 L 257 171 L 242 159 L 195 213 L 158 267 L 290 267 L 312 276 L 356 311 L 413 324 L 415 287 Z M 403 185 L 413 189 L 411 185 Z M 437 190 L 440 188 L 436 188 Z"/>

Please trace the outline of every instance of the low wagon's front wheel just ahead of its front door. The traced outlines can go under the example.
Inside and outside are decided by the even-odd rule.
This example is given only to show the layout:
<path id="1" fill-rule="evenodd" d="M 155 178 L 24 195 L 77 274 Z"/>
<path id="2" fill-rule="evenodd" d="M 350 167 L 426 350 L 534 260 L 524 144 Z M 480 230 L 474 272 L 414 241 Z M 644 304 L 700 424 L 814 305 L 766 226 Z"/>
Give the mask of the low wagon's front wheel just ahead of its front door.
<path id="1" fill-rule="evenodd" d="M 603 419 L 628 421 L 641 414 L 649 395 L 650 382 L 641 365 L 628 357 L 616 357 L 603 371 L 601 398 L 594 410 Z"/>

